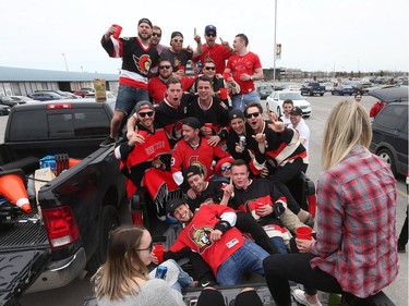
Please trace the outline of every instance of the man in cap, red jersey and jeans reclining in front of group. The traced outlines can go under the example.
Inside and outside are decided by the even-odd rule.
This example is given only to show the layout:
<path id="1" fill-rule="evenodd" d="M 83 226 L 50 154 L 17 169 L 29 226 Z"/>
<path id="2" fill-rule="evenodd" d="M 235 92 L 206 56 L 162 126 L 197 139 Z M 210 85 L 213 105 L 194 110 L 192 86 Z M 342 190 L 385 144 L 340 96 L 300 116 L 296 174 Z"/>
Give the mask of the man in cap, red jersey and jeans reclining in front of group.
<path id="1" fill-rule="evenodd" d="M 212 267 L 220 285 L 240 284 L 245 272 L 264 276 L 262 262 L 268 253 L 234 228 L 237 216 L 231 208 L 204 205 L 193 215 L 183 199 L 173 199 L 167 204 L 167 210 L 184 223 L 167 256 L 189 247 Z"/>

